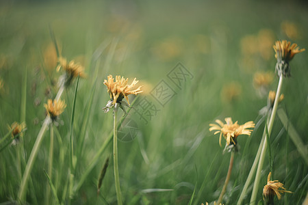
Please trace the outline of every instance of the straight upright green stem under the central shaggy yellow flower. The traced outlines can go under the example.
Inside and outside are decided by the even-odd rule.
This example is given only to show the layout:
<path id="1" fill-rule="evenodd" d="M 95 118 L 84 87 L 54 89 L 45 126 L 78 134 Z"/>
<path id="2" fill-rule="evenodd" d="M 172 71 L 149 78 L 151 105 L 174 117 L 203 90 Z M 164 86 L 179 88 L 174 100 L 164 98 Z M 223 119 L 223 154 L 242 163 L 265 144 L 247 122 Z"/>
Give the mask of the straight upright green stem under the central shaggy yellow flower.
<path id="1" fill-rule="evenodd" d="M 122 195 L 120 190 L 120 178 L 118 175 L 118 126 L 116 126 L 116 115 L 118 114 L 118 106 L 114 106 L 114 181 L 116 184 L 116 199 L 118 205 L 122 205 Z"/>

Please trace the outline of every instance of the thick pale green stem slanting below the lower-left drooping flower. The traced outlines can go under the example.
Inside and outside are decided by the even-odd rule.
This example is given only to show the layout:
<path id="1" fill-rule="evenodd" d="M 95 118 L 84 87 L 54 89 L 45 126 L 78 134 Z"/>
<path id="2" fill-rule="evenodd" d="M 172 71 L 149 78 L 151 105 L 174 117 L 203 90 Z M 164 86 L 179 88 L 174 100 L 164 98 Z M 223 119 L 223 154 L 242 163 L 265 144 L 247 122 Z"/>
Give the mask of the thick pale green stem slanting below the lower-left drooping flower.
<path id="1" fill-rule="evenodd" d="M 44 123 L 42 124 L 42 128 L 40 128 L 40 133 L 38 133 L 38 137 L 36 137 L 36 142 L 34 143 L 34 147 L 31 150 L 29 160 L 25 167 L 25 173 L 23 174 L 23 178 L 21 180 L 21 187 L 19 187 L 19 191 L 18 191 L 18 200 L 20 200 L 21 202 L 25 200 L 25 193 L 26 193 L 25 188 L 27 187 L 27 181 L 29 179 L 29 174 L 34 165 L 36 155 L 38 154 L 38 148 L 40 147 L 40 144 L 42 143 L 44 132 L 46 131 L 46 128 L 50 122 L 51 122 L 51 119 L 49 116 L 47 116 L 44 120 Z"/>

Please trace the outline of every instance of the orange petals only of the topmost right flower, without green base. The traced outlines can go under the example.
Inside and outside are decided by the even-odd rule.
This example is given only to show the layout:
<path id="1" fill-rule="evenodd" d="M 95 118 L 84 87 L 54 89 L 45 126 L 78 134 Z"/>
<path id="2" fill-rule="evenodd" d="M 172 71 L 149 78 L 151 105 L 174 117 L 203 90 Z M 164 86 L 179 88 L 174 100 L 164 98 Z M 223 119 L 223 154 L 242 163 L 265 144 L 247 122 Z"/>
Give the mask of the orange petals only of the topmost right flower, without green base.
<path id="1" fill-rule="evenodd" d="M 287 42 L 286 40 L 277 40 L 273 48 L 278 61 L 290 61 L 295 54 L 305 51 L 305 49 L 299 49 L 297 44 L 291 45 L 291 42 Z"/>

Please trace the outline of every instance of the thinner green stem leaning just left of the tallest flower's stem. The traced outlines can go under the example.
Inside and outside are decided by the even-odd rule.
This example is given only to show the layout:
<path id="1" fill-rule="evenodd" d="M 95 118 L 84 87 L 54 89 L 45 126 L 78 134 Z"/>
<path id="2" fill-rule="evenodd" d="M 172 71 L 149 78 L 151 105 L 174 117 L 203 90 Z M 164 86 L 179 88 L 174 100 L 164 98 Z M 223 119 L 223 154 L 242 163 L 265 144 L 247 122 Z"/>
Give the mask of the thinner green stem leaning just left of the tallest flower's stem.
<path id="1" fill-rule="evenodd" d="M 268 120 L 270 120 L 269 116 L 268 116 L 268 118 L 266 120 L 266 124 L 268 124 Z M 242 193 L 240 195 L 240 198 L 238 200 L 237 205 L 242 204 L 242 201 L 243 201 L 244 197 L 246 196 L 246 191 L 248 189 L 248 186 L 249 186 L 249 184 L 251 184 L 251 180 L 253 179 L 253 175 L 255 174 L 255 169 L 257 169 L 257 164 L 259 162 L 259 158 L 260 158 L 260 154 L 261 154 L 261 150 L 262 150 L 262 145 L 264 143 L 265 137 L 266 137 L 266 128 L 264 127 L 264 132 L 263 132 L 263 135 L 262 135 L 262 139 L 260 141 L 257 154 L 255 155 L 255 161 L 253 161 L 253 165 L 251 166 L 251 171 L 248 174 L 248 177 L 247 177 L 246 182 L 244 184 L 244 188 L 242 190 Z"/>

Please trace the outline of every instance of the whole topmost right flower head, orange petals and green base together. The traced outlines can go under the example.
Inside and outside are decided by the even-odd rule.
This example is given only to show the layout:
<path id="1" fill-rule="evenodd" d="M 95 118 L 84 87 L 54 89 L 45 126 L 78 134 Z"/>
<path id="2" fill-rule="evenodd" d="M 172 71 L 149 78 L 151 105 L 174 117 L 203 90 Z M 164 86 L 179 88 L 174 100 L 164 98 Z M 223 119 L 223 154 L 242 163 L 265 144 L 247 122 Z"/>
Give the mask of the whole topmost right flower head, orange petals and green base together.
<path id="1" fill-rule="evenodd" d="M 293 59 L 297 53 L 305 51 L 305 49 L 299 49 L 297 44 L 292 44 L 286 40 L 277 41 L 274 46 L 276 52 L 275 57 L 277 59 L 276 71 L 279 76 L 283 74 L 284 77 L 290 77 L 289 62 Z"/>

